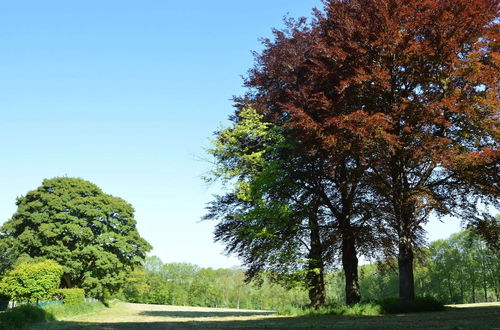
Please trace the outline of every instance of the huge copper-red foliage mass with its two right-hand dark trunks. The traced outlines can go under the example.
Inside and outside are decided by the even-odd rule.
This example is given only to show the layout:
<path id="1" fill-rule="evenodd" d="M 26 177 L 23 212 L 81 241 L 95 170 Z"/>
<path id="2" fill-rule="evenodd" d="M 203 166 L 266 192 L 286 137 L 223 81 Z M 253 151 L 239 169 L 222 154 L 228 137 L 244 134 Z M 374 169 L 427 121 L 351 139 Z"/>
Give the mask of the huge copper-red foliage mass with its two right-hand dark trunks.
<path id="1" fill-rule="evenodd" d="M 330 0 L 256 54 L 237 101 L 286 127 L 295 150 L 329 163 L 329 185 L 311 188 L 339 228 L 348 303 L 359 301 L 360 215 L 392 242 L 400 297 L 411 301 L 430 212 L 485 221 L 479 203 L 498 203 L 498 8 Z"/>

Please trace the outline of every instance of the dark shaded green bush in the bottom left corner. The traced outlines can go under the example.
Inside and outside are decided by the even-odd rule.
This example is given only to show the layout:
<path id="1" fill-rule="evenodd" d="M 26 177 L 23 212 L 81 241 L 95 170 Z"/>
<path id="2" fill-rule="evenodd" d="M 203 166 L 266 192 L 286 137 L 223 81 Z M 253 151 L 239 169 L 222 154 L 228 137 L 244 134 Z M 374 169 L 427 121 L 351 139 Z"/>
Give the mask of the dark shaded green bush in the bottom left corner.
<path id="1" fill-rule="evenodd" d="M 31 323 L 54 321 L 50 312 L 33 305 L 22 305 L 0 314 L 0 329 L 20 329 Z"/>

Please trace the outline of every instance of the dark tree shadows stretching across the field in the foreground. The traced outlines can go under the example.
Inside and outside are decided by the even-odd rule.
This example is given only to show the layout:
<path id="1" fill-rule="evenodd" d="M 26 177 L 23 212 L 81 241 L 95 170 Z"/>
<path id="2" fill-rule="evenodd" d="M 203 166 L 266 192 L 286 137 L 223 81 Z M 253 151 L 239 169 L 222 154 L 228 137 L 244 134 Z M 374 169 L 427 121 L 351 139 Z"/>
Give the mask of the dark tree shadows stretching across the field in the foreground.
<path id="1" fill-rule="evenodd" d="M 153 313 L 153 314 L 151 314 Z M 277 317 L 255 320 L 230 319 L 239 316 L 228 313 L 228 320 L 211 321 L 208 316 L 222 313 L 174 312 L 177 317 L 199 317 L 184 321 L 153 321 L 123 323 L 50 322 L 37 324 L 32 329 L 495 329 L 499 326 L 500 307 L 449 308 L 443 312 L 414 313 L 385 316 L 314 316 Z M 187 313 L 190 313 L 188 315 Z M 197 314 L 197 315 L 196 315 Z M 201 314 L 201 315 L 200 315 Z M 205 315 L 206 314 L 206 315 Z M 208 315 L 210 314 L 210 315 Z M 172 316 L 169 312 L 145 312 L 149 316 Z M 249 315 L 245 313 L 244 315 Z M 252 315 L 250 313 L 250 315 Z M 255 314 L 253 314 L 255 315 Z"/>

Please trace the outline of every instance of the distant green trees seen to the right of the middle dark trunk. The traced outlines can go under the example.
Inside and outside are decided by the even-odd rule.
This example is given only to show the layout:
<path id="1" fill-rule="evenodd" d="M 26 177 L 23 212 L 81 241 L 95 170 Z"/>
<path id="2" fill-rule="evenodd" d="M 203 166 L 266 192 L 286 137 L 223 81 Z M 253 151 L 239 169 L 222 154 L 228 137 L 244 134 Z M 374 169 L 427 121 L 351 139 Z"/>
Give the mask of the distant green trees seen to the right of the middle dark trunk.
<path id="1" fill-rule="evenodd" d="M 444 303 L 500 301 L 500 256 L 471 230 L 431 242 L 415 267 L 415 292 Z M 394 296 L 397 273 L 390 265 L 365 265 L 360 287 L 366 299 Z"/>

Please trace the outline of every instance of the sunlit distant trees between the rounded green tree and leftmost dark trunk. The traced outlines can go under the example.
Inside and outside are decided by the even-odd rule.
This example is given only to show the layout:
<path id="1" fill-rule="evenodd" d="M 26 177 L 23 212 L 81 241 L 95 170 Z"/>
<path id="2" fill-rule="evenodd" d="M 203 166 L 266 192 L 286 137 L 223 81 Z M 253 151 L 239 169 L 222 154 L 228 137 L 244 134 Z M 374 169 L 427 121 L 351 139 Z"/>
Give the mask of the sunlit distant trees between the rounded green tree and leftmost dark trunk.
<path id="1" fill-rule="evenodd" d="M 145 268 L 133 274 L 122 292 L 129 302 L 244 309 L 276 309 L 307 302 L 303 288 L 288 289 L 265 276 L 260 286 L 247 284 L 240 269 L 163 264 L 156 257 L 148 257 Z"/>

